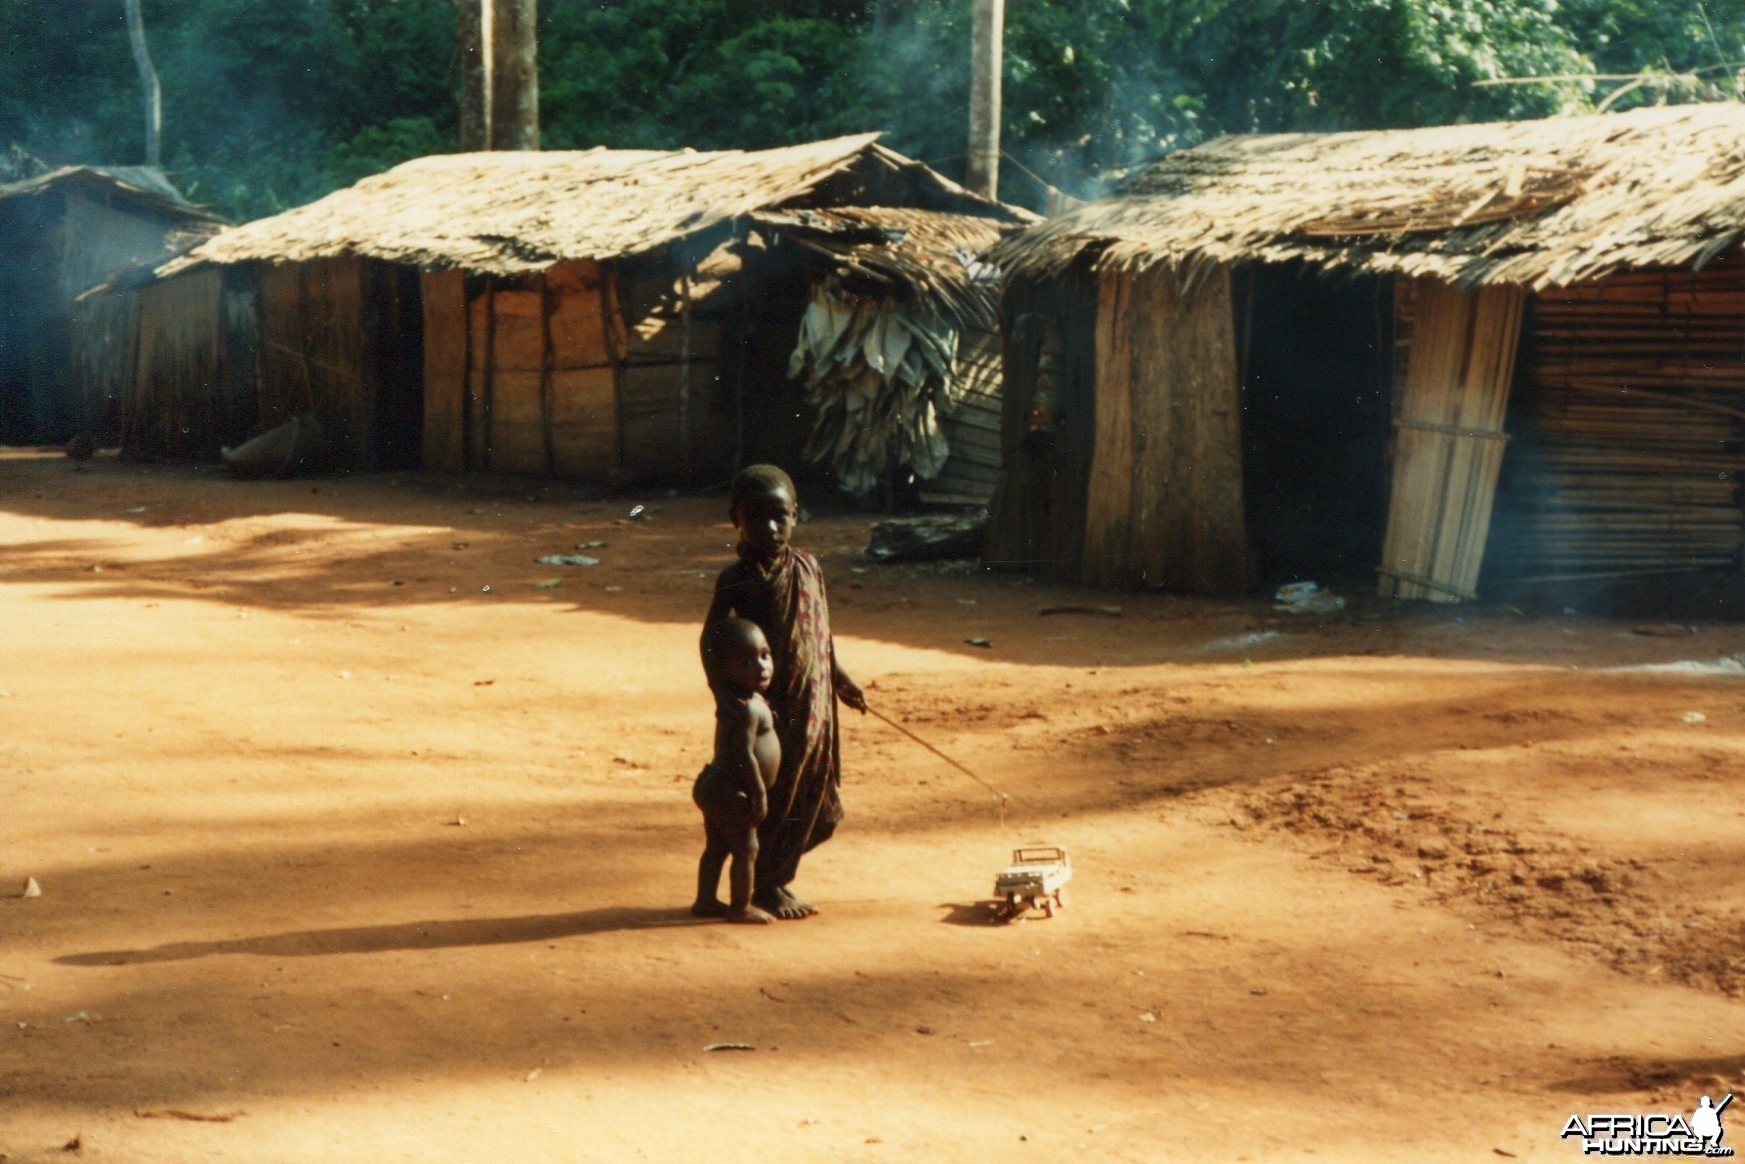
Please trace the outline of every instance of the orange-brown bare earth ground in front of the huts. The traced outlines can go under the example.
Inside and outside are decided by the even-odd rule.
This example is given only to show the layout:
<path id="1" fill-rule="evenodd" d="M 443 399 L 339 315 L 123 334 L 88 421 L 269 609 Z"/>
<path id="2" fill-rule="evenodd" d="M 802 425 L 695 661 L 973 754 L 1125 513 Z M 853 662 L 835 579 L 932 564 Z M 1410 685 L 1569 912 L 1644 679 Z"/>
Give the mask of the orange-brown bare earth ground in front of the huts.
<path id="1" fill-rule="evenodd" d="M 1745 679 L 1619 670 L 1742 628 L 1304 623 L 818 518 L 846 667 L 1012 805 L 852 717 L 824 913 L 740 928 L 684 911 L 722 508 L 0 455 L 0 1155 L 1564 1161 L 1745 1094 Z M 1026 841 L 1071 907 L 988 925 Z"/>

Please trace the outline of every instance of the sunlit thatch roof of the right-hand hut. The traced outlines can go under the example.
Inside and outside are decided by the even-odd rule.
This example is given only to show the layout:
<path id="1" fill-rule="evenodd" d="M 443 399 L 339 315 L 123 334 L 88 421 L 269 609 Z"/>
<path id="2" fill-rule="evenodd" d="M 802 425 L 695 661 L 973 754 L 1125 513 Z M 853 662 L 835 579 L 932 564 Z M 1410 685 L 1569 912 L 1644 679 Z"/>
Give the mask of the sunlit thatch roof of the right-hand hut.
<path id="1" fill-rule="evenodd" d="M 1462 286 L 1701 265 L 1745 237 L 1745 105 L 1218 138 L 995 250 L 1145 267 L 1304 260 Z"/>

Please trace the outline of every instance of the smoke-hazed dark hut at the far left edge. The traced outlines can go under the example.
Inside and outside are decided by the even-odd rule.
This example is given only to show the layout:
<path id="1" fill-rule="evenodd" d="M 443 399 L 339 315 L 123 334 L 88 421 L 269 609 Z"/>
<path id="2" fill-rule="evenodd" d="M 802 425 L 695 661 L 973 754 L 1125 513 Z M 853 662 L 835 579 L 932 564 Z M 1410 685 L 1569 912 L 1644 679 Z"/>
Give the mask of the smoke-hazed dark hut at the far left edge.
<path id="1" fill-rule="evenodd" d="M 82 302 L 80 291 L 218 225 L 145 166 L 66 166 L 0 185 L 0 442 L 58 443 L 105 428 L 105 401 L 126 379 L 134 304 Z"/>

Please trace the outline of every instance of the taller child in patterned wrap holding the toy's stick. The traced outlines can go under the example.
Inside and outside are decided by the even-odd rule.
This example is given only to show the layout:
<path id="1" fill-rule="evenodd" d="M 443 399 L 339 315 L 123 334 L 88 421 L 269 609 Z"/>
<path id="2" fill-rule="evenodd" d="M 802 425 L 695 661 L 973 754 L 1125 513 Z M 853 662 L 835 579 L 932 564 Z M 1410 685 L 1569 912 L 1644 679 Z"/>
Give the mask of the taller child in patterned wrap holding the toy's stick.
<path id="1" fill-rule="evenodd" d="M 794 895 L 799 859 L 822 845 L 843 818 L 838 696 L 866 712 L 866 696 L 836 661 L 824 571 L 789 544 L 799 494 L 787 473 L 754 464 L 733 478 L 728 510 L 738 531 L 738 562 L 715 578 L 708 627 L 738 614 L 763 630 L 775 661 L 770 710 L 782 742 L 782 764 L 770 789 L 770 815 L 757 829 L 754 904 L 778 918 L 808 918 L 811 904 Z"/>

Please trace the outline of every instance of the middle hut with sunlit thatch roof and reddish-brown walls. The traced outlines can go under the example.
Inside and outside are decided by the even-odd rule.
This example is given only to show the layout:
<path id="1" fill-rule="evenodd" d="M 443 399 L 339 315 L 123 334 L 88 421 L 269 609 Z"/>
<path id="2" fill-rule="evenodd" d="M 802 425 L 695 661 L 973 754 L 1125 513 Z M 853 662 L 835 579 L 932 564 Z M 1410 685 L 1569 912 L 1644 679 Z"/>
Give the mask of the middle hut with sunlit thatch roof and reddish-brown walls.
<path id="1" fill-rule="evenodd" d="M 780 370 L 824 262 L 797 239 L 822 220 L 782 216 L 843 208 L 1026 218 L 876 134 L 459 154 L 229 230 L 161 274 L 251 270 L 262 424 L 325 414 L 354 468 L 710 480 L 735 459 L 792 461 L 804 442 L 804 401 Z M 902 251 L 886 234 L 857 241 Z M 885 293 L 965 300 L 904 264 L 886 262 Z"/>

